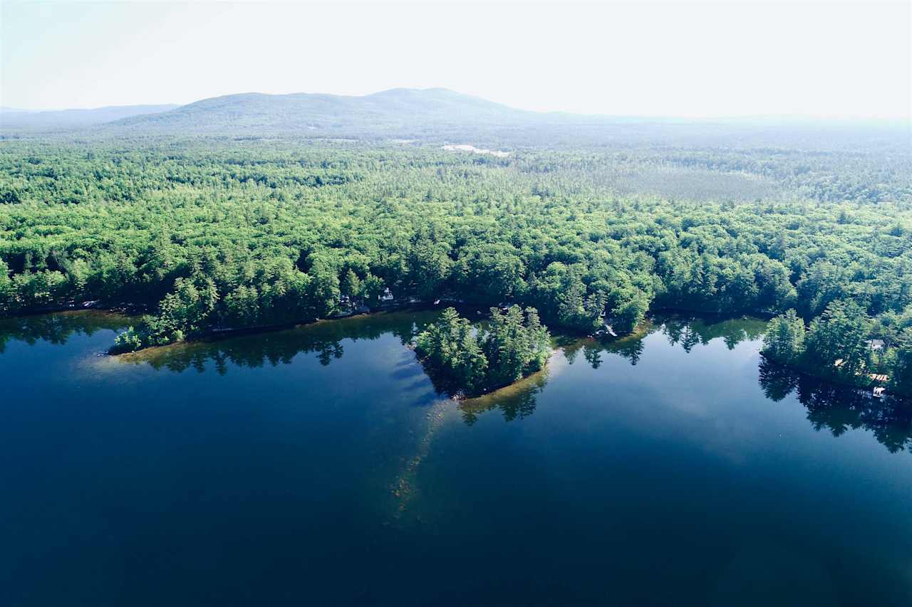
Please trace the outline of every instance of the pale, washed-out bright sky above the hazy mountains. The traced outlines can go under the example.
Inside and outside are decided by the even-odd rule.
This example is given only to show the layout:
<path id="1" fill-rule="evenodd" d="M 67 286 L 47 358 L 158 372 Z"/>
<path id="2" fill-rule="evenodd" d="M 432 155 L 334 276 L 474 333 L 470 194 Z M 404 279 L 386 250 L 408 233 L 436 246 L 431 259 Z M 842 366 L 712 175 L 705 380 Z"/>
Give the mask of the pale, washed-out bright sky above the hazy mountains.
<path id="1" fill-rule="evenodd" d="M 608 115 L 912 112 L 908 2 L 0 3 L 12 108 L 446 87 Z"/>

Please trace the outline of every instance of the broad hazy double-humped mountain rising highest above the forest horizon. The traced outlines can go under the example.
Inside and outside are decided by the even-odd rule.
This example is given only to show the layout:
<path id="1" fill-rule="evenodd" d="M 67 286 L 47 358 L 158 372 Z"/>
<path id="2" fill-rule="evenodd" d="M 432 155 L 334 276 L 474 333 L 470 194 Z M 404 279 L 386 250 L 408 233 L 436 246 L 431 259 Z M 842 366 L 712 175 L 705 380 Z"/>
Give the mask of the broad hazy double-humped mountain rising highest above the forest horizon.
<path id="1" fill-rule="evenodd" d="M 516 123 L 534 116 L 534 112 L 445 88 L 393 88 L 363 97 L 311 93 L 226 95 L 161 114 L 124 118 L 111 126 L 159 132 L 338 131 L 363 135 Z"/>

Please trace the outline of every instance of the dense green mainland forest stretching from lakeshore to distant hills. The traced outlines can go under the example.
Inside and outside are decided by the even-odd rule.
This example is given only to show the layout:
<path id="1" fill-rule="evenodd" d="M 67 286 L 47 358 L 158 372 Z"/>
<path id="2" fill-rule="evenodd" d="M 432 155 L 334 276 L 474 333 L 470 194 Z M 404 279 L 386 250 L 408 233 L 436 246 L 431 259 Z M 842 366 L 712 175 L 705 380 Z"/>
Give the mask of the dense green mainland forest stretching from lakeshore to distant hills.
<path id="1" fill-rule="evenodd" d="M 122 350 L 437 299 L 583 334 L 794 310 L 773 359 L 912 391 L 907 151 L 508 143 L 5 139 L 0 310 L 145 307 Z"/>

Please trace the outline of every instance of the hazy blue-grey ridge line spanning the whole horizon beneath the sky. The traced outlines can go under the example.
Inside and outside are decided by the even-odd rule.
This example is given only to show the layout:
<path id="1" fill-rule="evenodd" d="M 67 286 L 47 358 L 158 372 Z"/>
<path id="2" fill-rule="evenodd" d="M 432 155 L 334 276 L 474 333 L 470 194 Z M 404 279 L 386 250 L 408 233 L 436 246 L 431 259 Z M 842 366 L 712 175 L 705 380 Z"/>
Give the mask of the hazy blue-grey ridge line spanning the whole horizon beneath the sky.
<path id="1" fill-rule="evenodd" d="M 909 126 L 788 118 L 645 118 L 534 112 L 446 88 L 391 88 L 364 96 L 240 93 L 184 106 L 29 112 L 0 109 L 4 137 L 60 133 L 91 139 L 418 140 L 516 147 L 699 146 L 853 149 L 859 142 L 908 154 Z"/>

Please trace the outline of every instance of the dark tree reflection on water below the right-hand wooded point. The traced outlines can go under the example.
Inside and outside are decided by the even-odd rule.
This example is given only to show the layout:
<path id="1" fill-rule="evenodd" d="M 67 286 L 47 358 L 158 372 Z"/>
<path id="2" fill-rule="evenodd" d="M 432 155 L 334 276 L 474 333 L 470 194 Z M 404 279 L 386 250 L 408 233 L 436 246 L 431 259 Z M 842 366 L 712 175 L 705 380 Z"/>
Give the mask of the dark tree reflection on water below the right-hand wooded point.
<path id="1" fill-rule="evenodd" d="M 912 403 L 895 396 L 875 398 L 867 390 L 830 384 L 765 358 L 760 362 L 763 394 L 780 401 L 792 393 L 816 430 L 839 437 L 849 429 L 870 430 L 891 453 L 912 451 Z"/>

